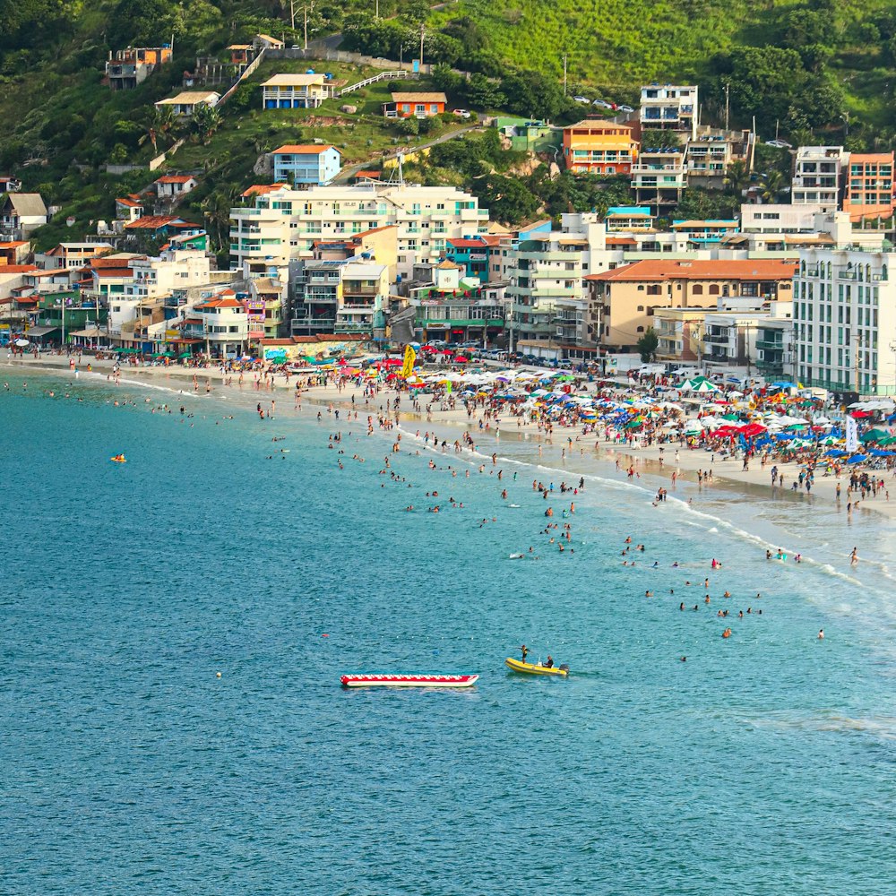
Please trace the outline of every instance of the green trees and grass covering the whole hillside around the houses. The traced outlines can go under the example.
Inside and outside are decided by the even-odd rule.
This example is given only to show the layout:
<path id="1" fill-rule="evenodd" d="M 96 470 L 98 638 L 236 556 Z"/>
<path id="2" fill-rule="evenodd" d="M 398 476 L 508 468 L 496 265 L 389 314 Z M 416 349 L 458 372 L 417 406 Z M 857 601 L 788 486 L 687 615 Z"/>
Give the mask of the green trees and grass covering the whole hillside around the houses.
<path id="1" fill-rule="evenodd" d="M 375 163 L 384 152 L 428 138 L 409 133 L 416 123 L 383 120 L 381 104 L 397 82 L 347 97 L 358 106 L 354 115 L 340 113 L 339 99 L 319 110 L 263 111 L 258 84 L 271 73 L 311 65 L 355 82 L 373 71 L 300 60 L 266 62 L 220 116 L 178 128 L 155 114 L 152 103 L 180 90 L 196 56 L 226 61 L 229 43 L 257 32 L 301 44 L 304 7 L 296 9 L 293 29 L 286 0 L 0 0 L 0 173 L 18 174 L 25 189 L 61 209 L 39 232 L 39 248 L 80 236 L 113 217 L 116 195 L 180 170 L 198 172 L 201 186 L 178 211 L 204 221 L 225 252 L 228 209 L 259 179 L 252 172 L 263 152 L 318 138 L 337 145 L 345 165 Z M 451 105 L 572 122 L 582 108 L 564 96 L 566 53 L 570 95 L 583 90 L 635 105 L 644 82 L 697 82 L 702 119 L 718 124 L 728 85 L 731 124 L 749 125 L 755 116 L 766 137 L 777 125 L 795 145 L 846 142 L 856 150 L 889 148 L 896 137 L 896 10 L 884 0 L 460 0 L 435 12 L 426 0 L 381 0 L 379 9 L 377 20 L 370 0 L 319 2 L 309 15 L 309 37 L 340 31 L 343 47 L 409 60 L 418 55 L 425 22 L 426 61 L 439 65 L 431 81 L 412 82 L 411 89 L 445 90 Z M 110 50 L 171 39 L 173 63 L 136 90 L 112 92 L 101 82 Z M 474 74 L 467 80 L 452 66 Z M 179 136 L 185 145 L 150 173 L 149 159 Z M 512 185 L 516 178 L 506 174 L 512 159 L 499 162 L 487 153 L 488 170 L 473 171 L 446 163 L 447 153 L 440 147 L 420 176 L 470 186 L 498 218 L 601 205 L 594 191 L 606 185 L 593 178 L 526 175 L 524 200 Z M 138 169 L 114 177 L 104 170 L 109 163 Z M 767 152 L 759 165 L 786 175 L 788 155 Z M 607 196 L 616 196 L 610 186 Z M 699 211 L 722 200 L 694 194 L 688 202 Z M 71 230 L 59 223 L 69 215 L 76 220 Z"/>

